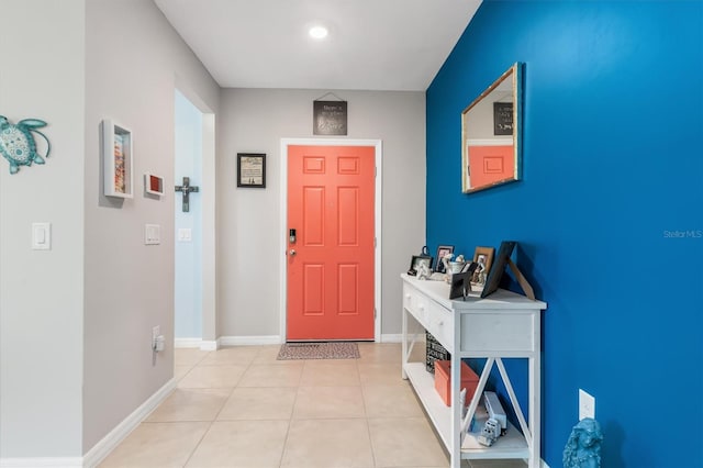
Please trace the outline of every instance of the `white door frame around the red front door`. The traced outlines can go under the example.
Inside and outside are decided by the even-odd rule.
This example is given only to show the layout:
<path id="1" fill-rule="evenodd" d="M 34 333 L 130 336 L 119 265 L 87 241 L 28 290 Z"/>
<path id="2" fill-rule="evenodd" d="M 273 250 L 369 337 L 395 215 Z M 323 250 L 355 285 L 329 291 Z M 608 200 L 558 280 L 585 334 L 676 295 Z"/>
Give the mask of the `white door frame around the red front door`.
<path id="1" fill-rule="evenodd" d="M 341 138 L 281 138 L 281 218 L 279 222 L 280 235 L 280 337 L 286 342 L 286 320 L 288 300 L 288 146 L 373 146 L 376 148 L 376 187 L 373 193 L 373 235 L 376 248 L 373 252 L 373 341 L 381 342 L 381 193 L 382 193 L 382 160 L 383 148 L 380 140 L 341 140 Z"/>

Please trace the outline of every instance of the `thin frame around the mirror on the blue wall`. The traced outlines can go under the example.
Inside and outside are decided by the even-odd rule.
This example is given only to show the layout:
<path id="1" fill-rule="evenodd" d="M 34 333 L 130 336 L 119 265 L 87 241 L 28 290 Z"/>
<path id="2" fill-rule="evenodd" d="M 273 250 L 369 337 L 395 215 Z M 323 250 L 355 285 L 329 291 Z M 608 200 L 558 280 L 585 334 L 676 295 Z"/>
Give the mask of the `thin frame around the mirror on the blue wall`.
<path id="1" fill-rule="evenodd" d="M 522 111 L 523 111 L 523 64 L 517 62 L 513 64 L 503 75 L 500 76 L 486 91 L 471 102 L 471 104 L 461 112 L 461 191 L 464 193 L 472 193 L 492 187 L 496 187 L 507 182 L 514 182 L 522 178 Z M 509 178 L 495 180 L 479 187 L 471 187 L 470 167 L 469 167 L 469 146 L 471 138 L 468 137 L 467 123 L 469 120 L 469 111 L 479 102 L 487 98 L 495 88 L 498 88 L 506 79 L 512 79 L 513 91 L 513 175 Z M 477 138 L 475 138 L 477 140 Z"/>

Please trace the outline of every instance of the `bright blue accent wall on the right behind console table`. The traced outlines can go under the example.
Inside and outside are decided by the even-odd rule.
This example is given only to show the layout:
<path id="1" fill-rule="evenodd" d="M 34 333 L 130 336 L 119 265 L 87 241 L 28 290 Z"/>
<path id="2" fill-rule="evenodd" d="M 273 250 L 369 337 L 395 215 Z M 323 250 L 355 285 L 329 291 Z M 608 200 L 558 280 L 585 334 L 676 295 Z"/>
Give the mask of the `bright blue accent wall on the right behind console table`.
<path id="1" fill-rule="evenodd" d="M 523 180 L 462 194 L 461 111 L 515 62 Z M 518 241 L 553 468 L 580 388 L 603 466 L 703 466 L 702 138 L 701 1 L 484 1 L 427 89 L 427 245 Z"/>

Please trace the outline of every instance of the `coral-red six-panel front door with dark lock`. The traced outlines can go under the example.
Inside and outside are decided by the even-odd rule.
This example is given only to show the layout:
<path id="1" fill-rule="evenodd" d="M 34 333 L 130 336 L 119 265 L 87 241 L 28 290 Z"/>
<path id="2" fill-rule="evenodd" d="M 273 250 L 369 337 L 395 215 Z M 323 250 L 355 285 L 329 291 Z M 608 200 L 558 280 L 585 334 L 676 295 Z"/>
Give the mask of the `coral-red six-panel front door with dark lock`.
<path id="1" fill-rule="evenodd" d="M 373 339 L 375 160 L 288 146 L 288 341 Z"/>

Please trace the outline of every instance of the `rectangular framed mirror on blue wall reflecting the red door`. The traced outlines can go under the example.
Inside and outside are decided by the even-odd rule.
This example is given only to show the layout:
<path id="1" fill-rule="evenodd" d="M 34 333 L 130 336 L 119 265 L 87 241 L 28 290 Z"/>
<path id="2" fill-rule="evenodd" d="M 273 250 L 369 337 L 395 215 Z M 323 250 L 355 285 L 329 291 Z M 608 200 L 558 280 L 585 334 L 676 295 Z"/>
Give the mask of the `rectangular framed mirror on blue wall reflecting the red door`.
<path id="1" fill-rule="evenodd" d="M 516 63 L 461 113 L 461 191 L 520 180 L 522 64 Z"/>

